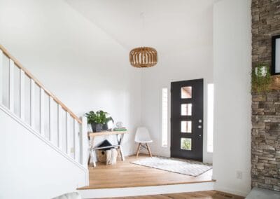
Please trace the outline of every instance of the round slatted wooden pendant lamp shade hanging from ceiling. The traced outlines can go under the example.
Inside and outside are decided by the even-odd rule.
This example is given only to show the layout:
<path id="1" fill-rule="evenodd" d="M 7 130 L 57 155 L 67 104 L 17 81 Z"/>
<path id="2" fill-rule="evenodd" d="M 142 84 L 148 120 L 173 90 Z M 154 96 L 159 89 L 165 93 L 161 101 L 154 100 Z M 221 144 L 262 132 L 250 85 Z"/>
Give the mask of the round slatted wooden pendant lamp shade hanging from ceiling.
<path id="1" fill-rule="evenodd" d="M 130 51 L 130 64 L 132 67 L 148 68 L 158 63 L 158 52 L 155 48 L 140 47 Z"/>

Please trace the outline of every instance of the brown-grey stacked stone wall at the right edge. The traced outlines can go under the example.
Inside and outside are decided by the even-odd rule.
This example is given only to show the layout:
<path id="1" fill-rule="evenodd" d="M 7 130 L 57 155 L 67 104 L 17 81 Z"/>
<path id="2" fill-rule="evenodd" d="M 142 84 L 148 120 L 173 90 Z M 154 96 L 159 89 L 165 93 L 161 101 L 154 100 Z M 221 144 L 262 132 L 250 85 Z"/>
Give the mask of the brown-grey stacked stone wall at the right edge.
<path id="1" fill-rule="evenodd" d="M 252 65 L 271 65 L 280 0 L 252 0 Z M 252 186 L 280 191 L 280 88 L 252 95 Z"/>

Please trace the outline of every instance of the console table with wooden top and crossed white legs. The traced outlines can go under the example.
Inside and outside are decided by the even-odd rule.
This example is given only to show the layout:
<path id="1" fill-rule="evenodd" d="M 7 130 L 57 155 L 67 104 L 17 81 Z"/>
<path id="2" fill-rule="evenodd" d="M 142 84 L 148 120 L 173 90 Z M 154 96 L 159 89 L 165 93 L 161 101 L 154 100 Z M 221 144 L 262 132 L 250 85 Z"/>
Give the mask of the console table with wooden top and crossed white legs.
<path id="1" fill-rule="evenodd" d="M 90 139 L 90 156 L 89 156 L 88 161 L 87 161 L 88 165 L 90 164 L 90 159 L 92 159 L 93 166 L 96 167 L 95 151 L 98 150 L 98 149 L 109 149 L 109 148 L 119 149 L 120 150 L 120 158 L 124 161 L 125 157 L 123 156 L 122 142 L 123 142 L 123 137 L 126 133 L 127 133 L 127 130 L 88 132 L 88 137 Z M 116 139 L 117 139 L 118 144 L 113 145 L 113 146 L 94 147 L 94 138 L 95 137 L 108 136 L 108 135 L 116 135 Z"/>

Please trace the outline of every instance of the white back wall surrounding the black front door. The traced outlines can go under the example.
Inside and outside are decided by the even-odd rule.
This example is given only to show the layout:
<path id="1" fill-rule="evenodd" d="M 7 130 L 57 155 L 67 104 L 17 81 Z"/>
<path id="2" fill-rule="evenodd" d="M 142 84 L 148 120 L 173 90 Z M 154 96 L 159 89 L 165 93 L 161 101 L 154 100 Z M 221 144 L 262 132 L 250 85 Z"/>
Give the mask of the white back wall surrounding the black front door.
<path id="1" fill-rule="evenodd" d="M 190 32 L 200 32 L 200 36 L 189 34 L 184 49 L 172 48 L 168 53 L 158 50 L 158 64 L 144 69 L 141 78 L 141 118 L 142 124 L 151 131 L 153 153 L 170 156 L 170 122 L 168 124 L 168 146 L 162 147 L 161 115 L 162 88 L 170 90 L 172 81 L 204 78 L 204 162 L 212 162 L 212 154 L 207 153 L 207 83 L 213 82 L 212 58 L 212 10 L 207 4 L 197 18 L 193 18 Z M 199 19 L 199 20 L 198 20 Z M 197 20 L 197 21 L 196 21 Z M 186 24 L 188 26 L 188 24 Z M 186 39 L 186 38 L 185 38 Z M 166 41 L 168 46 L 169 41 Z M 170 118 L 170 92 L 169 117 Z"/>

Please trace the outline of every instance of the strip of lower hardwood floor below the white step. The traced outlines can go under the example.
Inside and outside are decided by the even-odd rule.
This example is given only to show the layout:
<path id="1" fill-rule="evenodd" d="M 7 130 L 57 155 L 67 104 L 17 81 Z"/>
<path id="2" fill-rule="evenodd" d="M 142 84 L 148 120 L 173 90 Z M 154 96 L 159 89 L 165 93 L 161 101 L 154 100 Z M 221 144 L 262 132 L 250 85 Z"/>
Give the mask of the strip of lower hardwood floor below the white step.
<path id="1" fill-rule="evenodd" d="M 123 197 L 123 199 L 243 199 L 244 197 L 238 195 L 232 195 L 229 193 L 223 193 L 220 191 L 197 191 L 188 193 L 172 193 L 162 195 L 142 195 L 134 197 Z M 122 198 L 114 198 L 122 199 Z"/>

